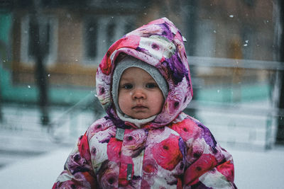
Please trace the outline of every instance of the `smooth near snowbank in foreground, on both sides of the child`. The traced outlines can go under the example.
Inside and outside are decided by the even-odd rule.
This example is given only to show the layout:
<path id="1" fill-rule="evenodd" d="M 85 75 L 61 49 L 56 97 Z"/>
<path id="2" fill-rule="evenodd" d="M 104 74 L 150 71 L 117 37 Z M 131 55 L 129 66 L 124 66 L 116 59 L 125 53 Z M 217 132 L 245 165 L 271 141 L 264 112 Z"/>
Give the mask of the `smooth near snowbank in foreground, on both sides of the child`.
<path id="1" fill-rule="evenodd" d="M 61 147 L 4 166 L 0 169 L 1 188 L 52 188 L 71 150 L 70 147 Z M 269 150 L 226 150 L 234 156 L 235 183 L 238 188 L 283 188 L 284 147 Z"/>

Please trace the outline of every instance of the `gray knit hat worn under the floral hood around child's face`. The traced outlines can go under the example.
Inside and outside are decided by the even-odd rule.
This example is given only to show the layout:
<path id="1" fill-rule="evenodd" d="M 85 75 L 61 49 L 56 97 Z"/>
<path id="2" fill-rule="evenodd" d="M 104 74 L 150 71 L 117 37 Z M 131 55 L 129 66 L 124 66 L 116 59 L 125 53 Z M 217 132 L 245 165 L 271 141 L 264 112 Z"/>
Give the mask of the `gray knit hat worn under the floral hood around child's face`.
<path id="1" fill-rule="evenodd" d="M 162 76 L 162 74 L 160 74 L 160 71 L 158 71 L 158 69 L 153 67 L 152 65 L 143 62 L 140 59 L 136 59 L 135 57 L 127 55 L 126 57 L 121 59 L 120 62 L 116 63 L 116 67 L 114 69 L 114 74 L 112 78 L 112 86 L 111 86 L 111 93 L 112 93 L 112 98 L 114 99 L 114 105 L 116 106 L 116 111 L 119 111 L 119 113 L 121 113 L 122 115 L 124 115 L 124 113 L 122 113 L 121 109 L 119 108 L 119 101 L 118 101 L 119 81 L 124 70 L 130 67 L 138 67 L 145 70 L 148 74 L 150 74 L 153 77 L 155 82 L 158 84 L 160 91 L 162 91 L 163 93 L 164 100 L 168 96 L 168 83 L 167 81 L 165 81 L 165 78 Z"/>

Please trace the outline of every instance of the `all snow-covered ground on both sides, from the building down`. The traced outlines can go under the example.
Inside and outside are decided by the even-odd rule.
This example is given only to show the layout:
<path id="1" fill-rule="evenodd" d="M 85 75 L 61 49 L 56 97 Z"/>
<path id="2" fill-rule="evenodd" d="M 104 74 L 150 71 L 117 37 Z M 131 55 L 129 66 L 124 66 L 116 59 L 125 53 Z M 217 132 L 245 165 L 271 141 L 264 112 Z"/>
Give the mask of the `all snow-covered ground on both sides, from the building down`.
<path id="1" fill-rule="evenodd" d="M 200 107 L 198 115 L 222 147 L 233 154 L 238 188 L 284 188 L 284 147 L 273 145 L 275 121 L 269 117 L 270 106 L 253 104 L 250 105 L 253 110 L 243 106 L 234 107 L 234 111 L 226 107 L 218 110 Z M 53 108 L 51 118 L 60 127 L 47 132 L 40 125 L 38 110 L 3 108 L 4 121 L 0 122 L 1 189 L 53 186 L 72 144 L 96 120 L 92 112 L 73 109 Z M 59 144 L 55 142 L 57 139 L 60 139 Z M 272 144 L 272 149 L 265 150 L 270 147 L 267 144 Z"/>

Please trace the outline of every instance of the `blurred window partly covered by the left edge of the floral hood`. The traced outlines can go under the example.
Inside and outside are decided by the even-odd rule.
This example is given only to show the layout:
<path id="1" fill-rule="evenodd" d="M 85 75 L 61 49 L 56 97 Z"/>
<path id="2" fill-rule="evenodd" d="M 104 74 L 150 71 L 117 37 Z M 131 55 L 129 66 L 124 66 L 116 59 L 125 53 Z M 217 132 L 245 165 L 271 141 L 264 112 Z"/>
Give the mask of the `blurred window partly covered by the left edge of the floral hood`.
<path id="1" fill-rule="evenodd" d="M 109 46 L 133 29 L 133 16 L 87 16 L 84 21 L 84 64 L 99 64 Z"/>

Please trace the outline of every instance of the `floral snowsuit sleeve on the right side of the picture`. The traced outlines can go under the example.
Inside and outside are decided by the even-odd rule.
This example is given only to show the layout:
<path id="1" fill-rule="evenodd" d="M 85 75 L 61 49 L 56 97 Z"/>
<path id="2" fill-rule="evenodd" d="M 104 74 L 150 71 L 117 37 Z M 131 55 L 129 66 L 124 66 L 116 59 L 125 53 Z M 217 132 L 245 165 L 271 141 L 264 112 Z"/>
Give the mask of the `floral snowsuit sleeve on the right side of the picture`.
<path id="1" fill-rule="evenodd" d="M 233 158 L 220 147 L 207 127 L 187 118 L 173 129 L 186 146 L 184 188 L 236 188 Z"/>

